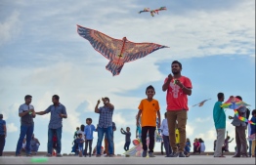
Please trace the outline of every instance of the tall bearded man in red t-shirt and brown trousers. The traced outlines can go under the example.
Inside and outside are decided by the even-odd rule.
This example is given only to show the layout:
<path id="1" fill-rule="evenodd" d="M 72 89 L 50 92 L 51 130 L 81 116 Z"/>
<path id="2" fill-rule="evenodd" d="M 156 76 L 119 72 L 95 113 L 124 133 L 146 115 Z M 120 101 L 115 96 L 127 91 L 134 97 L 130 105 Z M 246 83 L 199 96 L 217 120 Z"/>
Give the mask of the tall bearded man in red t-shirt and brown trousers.
<path id="1" fill-rule="evenodd" d="M 172 62 L 172 74 L 165 78 L 162 86 L 163 91 L 167 91 L 167 121 L 169 128 L 170 144 L 173 149 L 172 157 L 185 157 L 184 148 L 186 144 L 186 124 L 188 107 L 188 95 L 192 95 L 192 82 L 190 78 L 181 75 L 182 63 Z M 178 121 L 180 133 L 180 146 L 176 147 L 175 128 Z"/>

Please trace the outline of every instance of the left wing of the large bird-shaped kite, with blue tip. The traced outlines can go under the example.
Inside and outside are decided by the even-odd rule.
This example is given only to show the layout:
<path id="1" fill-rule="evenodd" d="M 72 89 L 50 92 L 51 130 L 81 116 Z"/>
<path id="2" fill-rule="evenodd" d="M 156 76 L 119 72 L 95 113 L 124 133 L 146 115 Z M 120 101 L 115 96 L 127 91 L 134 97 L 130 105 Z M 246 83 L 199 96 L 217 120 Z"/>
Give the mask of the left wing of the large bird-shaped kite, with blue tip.
<path id="1" fill-rule="evenodd" d="M 111 38 L 100 31 L 77 24 L 77 33 L 87 39 L 96 51 L 110 61 L 122 48 L 122 40 Z"/>

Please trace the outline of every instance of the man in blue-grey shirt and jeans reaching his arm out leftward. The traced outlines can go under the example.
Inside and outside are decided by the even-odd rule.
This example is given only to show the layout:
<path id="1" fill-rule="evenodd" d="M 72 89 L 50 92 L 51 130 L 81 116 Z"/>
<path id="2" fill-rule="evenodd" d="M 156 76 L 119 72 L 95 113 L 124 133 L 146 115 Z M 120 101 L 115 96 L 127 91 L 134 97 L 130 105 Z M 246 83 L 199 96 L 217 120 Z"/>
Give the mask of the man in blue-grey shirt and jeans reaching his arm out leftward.
<path id="1" fill-rule="evenodd" d="M 54 95 L 52 102 L 54 104 L 50 105 L 46 110 L 36 112 L 36 114 L 44 115 L 51 112 L 51 119 L 48 129 L 48 149 L 47 156 L 52 156 L 53 151 L 53 137 L 54 134 L 57 136 L 57 157 L 62 157 L 62 133 L 63 133 L 63 118 L 67 118 L 66 110 L 64 104 L 59 102 L 60 97 Z"/>

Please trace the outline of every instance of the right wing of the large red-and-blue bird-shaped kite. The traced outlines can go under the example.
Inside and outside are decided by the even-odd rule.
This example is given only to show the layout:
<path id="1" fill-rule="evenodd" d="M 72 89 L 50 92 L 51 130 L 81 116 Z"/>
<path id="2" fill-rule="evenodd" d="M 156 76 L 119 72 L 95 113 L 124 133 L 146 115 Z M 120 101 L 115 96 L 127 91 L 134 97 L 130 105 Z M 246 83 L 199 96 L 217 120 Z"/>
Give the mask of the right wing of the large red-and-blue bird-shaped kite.
<path id="1" fill-rule="evenodd" d="M 134 43 L 126 41 L 120 62 L 132 62 L 144 58 L 158 49 L 169 48 L 154 43 Z"/>

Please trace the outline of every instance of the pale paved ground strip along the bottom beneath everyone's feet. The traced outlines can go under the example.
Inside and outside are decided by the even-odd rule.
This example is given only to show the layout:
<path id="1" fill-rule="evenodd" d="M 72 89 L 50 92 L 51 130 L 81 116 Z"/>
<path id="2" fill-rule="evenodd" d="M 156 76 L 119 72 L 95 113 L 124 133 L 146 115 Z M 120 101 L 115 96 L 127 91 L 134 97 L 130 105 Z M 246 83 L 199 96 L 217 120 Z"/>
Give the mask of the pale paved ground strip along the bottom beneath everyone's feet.
<path id="1" fill-rule="evenodd" d="M 32 162 L 37 159 L 37 162 Z M 213 156 L 191 156 L 187 158 L 171 158 L 156 156 L 142 157 L 0 157 L 0 164 L 255 164 L 255 158 L 214 158 Z"/>

